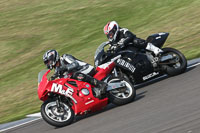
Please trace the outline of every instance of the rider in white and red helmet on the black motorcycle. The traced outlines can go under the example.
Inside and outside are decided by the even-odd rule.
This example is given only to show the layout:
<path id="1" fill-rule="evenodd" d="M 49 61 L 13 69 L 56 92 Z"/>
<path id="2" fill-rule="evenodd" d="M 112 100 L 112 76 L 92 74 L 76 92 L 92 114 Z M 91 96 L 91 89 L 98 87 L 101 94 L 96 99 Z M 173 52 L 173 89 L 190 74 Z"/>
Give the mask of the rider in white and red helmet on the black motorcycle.
<path id="1" fill-rule="evenodd" d="M 154 46 L 152 43 L 147 43 L 145 40 L 137 38 L 128 29 L 119 27 L 116 21 L 108 22 L 104 26 L 104 34 L 107 35 L 111 45 L 117 44 L 121 48 L 124 48 L 129 43 L 132 43 L 134 47 L 152 51 L 156 56 L 162 52 L 160 48 Z"/>

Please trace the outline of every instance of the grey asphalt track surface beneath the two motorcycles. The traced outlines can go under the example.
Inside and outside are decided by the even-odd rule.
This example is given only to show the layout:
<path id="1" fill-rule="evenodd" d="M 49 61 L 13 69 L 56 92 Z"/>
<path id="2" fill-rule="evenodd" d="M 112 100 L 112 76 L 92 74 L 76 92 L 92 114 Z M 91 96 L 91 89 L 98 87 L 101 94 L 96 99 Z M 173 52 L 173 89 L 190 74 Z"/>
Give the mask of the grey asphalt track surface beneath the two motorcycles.
<path id="1" fill-rule="evenodd" d="M 200 133 L 200 66 L 137 88 L 136 100 L 79 116 L 63 128 L 42 119 L 9 133 Z"/>

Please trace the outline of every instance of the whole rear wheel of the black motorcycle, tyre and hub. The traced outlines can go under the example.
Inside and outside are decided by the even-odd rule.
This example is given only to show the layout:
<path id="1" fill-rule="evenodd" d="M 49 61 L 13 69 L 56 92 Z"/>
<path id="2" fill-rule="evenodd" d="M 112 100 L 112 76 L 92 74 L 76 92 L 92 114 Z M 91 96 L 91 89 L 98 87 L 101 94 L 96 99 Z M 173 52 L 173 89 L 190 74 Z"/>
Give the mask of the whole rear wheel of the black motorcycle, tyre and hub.
<path id="1" fill-rule="evenodd" d="M 163 51 L 162 56 L 171 55 L 173 57 L 166 65 L 163 65 L 165 67 L 165 72 L 169 76 L 175 76 L 185 72 L 187 69 L 187 60 L 180 51 L 173 48 L 163 48 Z"/>

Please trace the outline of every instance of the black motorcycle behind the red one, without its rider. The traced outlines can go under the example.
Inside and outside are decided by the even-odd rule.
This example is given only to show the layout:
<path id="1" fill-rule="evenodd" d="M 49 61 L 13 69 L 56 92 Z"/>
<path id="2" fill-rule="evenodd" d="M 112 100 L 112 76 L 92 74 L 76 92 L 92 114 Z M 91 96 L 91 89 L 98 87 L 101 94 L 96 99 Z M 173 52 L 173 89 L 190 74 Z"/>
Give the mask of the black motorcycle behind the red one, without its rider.
<path id="1" fill-rule="evenodd" d="M 131 45 L 121 48 L 120 45 L 110 45 L 109 42 L 102 43 L 96 50 L 94 60 L 95 66 L 99 66 L 110 59 L 121 56 L 116 61 L 117 68 L 114 75 L 123 73 L 133 84 L 139 84 L 162 74 L 174 76 L 183 73 L 187 68 L 185 56 L 174 48 L 162 48 L 169 33 L 157 33 L 150 35 L 147 42 L 163 50 L 158 56 L 146 49 L 138 49 Z M 109 46 L 108 50 L 104 50 Z"/>

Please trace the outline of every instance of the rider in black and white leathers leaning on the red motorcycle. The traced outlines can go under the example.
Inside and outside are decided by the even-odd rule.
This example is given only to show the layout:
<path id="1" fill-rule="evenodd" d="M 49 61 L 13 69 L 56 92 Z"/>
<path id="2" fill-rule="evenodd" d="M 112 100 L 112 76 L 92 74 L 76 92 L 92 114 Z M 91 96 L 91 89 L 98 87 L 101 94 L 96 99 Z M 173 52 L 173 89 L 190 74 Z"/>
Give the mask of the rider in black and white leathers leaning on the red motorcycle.
<path id="1" fill-rule="evenodd" d="M 56 50 L 48 50 L 43 55 L 43 61 L 48 69 L 55 68 L 55 73 L 51 80 L 57 77 L 63 78 L 66 73 L 72 73 L 71 78 L 94 85 L 93 91 L 96 93 L 96 97 L 100 98 L 102 94 L 106 93 L 107 84 L 91 76 L 95 73 L 94 67 L 76 59 L 72 55 L 64 54 L 59 56 Z"/>

